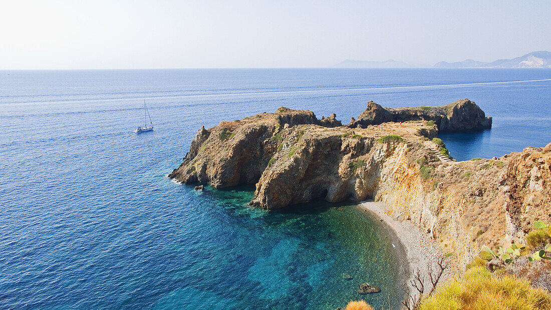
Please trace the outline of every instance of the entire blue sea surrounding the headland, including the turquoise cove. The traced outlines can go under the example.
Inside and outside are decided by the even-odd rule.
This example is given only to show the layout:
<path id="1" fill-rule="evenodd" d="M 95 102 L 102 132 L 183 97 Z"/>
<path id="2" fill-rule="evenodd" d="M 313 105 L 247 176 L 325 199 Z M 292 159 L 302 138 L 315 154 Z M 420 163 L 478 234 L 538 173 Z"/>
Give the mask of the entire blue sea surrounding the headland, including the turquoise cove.
<path id="1" fill-rule="evenodd" d="M 401 253 L 352 202 L 264 211 L 246 205 L 254 188 L 166 175 L 201 125 L 463 98 L 494 123 L 442 134 L 457 160 L 551 142 L 549 69 L 0 71 L 0 308 L 397 308 Z M 144 99 L 155 129 L 134 134 Z"/>

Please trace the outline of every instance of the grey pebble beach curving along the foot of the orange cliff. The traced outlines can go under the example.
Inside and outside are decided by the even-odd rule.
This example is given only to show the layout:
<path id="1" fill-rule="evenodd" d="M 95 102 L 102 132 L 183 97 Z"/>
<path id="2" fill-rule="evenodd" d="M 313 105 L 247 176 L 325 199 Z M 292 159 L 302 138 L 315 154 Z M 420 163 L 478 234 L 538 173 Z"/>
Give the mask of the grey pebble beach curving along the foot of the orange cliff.
<path id="1" fill-rule="evenodd" d="M 387 233 L 395 242 L 399 255 L 399 264 L 403 282 L 407 283 L 410 290 L 410 280 L 413 280 L 414 270 L 419 269 L 420 274 L 425 278 L 425 287 L 430 285 L 427 274 L 427 264 L 437 259 L 441 254 L 433 246 L 433 240 L 413 225 L 412 221 L 398 221 L 391 216 L 385 214 L 385 209 L 388 207 L 380 202 L 361 202 L 359 208 L 379 217 L 381 222 L 385 224 Z M 412 290 L 413 292 L 417 292 Z"/>

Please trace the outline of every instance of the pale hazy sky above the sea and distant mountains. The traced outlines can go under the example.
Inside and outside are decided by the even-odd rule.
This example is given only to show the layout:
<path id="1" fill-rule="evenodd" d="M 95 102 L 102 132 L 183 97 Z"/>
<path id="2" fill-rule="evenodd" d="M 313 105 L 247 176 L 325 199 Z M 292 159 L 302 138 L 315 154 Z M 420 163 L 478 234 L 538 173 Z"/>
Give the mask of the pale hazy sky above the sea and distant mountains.
<path id="1" fill-rule="evenodd" d="M 0 69 L 328 67 L 551 51 L 551 1 L 0 0 Z"/>

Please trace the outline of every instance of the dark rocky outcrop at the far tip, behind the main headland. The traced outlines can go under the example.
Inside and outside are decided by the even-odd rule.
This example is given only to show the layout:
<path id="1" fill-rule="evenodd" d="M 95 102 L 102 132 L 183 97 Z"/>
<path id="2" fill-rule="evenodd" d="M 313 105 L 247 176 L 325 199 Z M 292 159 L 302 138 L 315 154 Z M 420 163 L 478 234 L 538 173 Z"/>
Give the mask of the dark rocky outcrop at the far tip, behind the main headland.
<path id="1" fill-rule="evenodd" d="M 458 131 L 491 128 L 491 117 L 468 99 L 457 100 L 445 106 L 383 108 L 373 101 L 350 127 L 365 128 L 387 122 L 433 121 L 440 131 Z"/>

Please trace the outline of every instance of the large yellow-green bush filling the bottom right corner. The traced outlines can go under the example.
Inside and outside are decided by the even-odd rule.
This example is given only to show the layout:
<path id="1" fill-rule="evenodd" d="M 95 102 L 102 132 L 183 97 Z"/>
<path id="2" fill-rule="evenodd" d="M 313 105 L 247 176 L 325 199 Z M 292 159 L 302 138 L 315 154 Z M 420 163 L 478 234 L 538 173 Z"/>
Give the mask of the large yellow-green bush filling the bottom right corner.
<path id="1" fill-rule="evenodd" d="M 551 309 L 551 295 L 528 280 L 473 267 L 423 298 L 419 309 Z"/>

